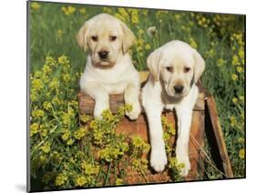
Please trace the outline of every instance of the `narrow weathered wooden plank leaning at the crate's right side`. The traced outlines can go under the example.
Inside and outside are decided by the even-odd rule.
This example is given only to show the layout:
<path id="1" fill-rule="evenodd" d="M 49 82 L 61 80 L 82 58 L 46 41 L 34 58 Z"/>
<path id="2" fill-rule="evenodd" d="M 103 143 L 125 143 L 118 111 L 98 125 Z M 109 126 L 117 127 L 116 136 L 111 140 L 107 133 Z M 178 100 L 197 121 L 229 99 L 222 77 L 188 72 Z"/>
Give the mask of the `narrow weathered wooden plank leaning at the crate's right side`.
<path id="1" fill-rule="evenodd" d="M 213 96 L 211 95 L 206 96 L 206 105 L 207 105 L 208 114 L 210 116 L 210 125 L 211 125 L 208 127 L 213 130 L 214 135 L 212 137 L 215 137 L 216 139 L 215 141 L 217 143 L 217 147 L 220 153 L 222 168 L 226 176 L 225 178 L 233 178 L 230 158 L 228 155 L 224 137 L 222 135 L 218 111 L 217 111 L 216 103 Z"/>

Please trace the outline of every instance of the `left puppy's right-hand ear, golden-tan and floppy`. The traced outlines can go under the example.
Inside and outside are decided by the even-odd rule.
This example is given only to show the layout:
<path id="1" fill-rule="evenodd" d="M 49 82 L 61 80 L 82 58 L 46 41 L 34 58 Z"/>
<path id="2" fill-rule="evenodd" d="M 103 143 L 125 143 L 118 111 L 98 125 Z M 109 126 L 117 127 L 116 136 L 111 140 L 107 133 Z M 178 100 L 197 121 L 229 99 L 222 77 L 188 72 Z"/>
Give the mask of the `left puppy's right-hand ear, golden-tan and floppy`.
<path id="1" fill-rule="evenodd" d="M 120 22 L 122 29 L 123 29 L 123 42 L 122 48 L 123 53 L 128 52 L 128 49 L 134 44 L 135 36 L 133 35 L 132 31 L 125 25 L 123 22 Z"/>

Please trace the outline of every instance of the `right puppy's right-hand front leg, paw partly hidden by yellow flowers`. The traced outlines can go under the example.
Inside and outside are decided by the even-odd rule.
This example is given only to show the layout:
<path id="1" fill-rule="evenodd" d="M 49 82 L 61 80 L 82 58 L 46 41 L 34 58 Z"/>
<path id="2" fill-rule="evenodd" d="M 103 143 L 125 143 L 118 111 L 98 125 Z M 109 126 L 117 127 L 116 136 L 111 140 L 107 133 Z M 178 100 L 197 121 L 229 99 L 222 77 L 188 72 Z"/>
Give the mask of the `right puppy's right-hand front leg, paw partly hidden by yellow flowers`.
<path id="1" fill-rule="evenodd" d="M 181 170 L 183 177 L 188 176 L 190 170 L 189 162 L 189 133 L 192 120 L 192 110 L 176 108 L 178 117 L 178 139 L 176 144 L 176 157 L 179 163 L 184 164 Z"/>

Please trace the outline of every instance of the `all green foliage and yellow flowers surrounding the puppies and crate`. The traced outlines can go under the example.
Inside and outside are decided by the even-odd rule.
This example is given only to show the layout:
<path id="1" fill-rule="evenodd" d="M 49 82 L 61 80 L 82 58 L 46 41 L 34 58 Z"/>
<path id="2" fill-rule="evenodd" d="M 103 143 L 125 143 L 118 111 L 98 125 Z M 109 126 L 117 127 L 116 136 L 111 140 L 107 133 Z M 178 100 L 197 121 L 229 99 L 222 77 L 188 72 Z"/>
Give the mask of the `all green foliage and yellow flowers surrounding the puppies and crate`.
<path id="1" fill-rule="evenodd" d="M 245 176 L 243 15 L 35 2 L 29 5 L 32 189 L 122 185 L 126 183 L 126 166 L 145 176 L 148 160 L 142 155 L 148 152 L 148 144 L 139 137 L 115 132 L 120 118 L 131 107 L 121 108 L 117 115 L 105 111 L 101 120 L 78 116 L 78 78 L 87 53 L 77 46 L 75 36 L 88 18 L 102 12 L 117 16 L 137 36 L 130 54 L 138 70 L 146 69 L 150 52 L 173 39 L 186 41 L 200 52 L 206 61 L 202 83 L 216 99 L 234 176 Z M 51 56 L 60 57 L 55 60 Z M 87 123 L 87 127 L 80 127 L 80 122 Z M 167 143 L 175 130 L 165 120 L 163 126 Z M 169 173 L 179 180 L 182 166 L 171 158 L 174 152 L 170 145 Z M 205 152 L 209 154 L 209 150 L 207 147 Z M 200 178 L 221 177 L 212 163 L 205 164 L 205 171 Z M 114 176 L 114 182 L 109 181 L 110 176 Z"/>

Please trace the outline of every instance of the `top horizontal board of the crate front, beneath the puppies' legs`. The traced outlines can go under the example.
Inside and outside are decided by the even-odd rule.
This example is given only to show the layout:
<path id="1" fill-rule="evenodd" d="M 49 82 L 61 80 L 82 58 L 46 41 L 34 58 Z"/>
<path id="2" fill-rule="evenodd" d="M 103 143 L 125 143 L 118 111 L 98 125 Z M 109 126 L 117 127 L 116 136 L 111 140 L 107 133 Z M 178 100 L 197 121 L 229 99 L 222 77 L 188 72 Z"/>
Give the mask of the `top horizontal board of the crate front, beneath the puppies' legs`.
<path id="1" fill-rule="evenodd" d="M 93 110 L 95 106 L 95 101 L 92 97 L 80 92 L 78 93 L 79 101 L 79 112 L 81 114 L 93 115 Z M 139 95 L 139 103 L 141 105 L 141 95 Z M 123 95 L 110 95 L 109 96 L 109 107 L 112 113 L 116 113 L 118 107 L 125 105 Z M 194 110 L 203 111 L 204 110 L 204 93 L 200 93 Z M 143 107 L 141 107 L 141 113 L 144 113 Z"/>

